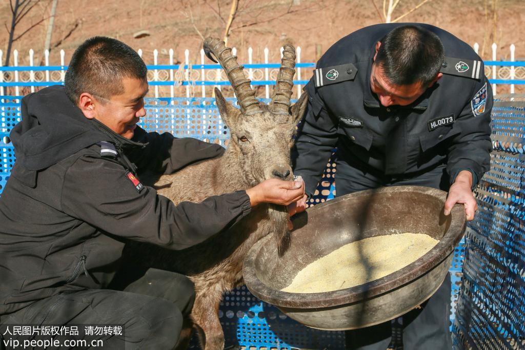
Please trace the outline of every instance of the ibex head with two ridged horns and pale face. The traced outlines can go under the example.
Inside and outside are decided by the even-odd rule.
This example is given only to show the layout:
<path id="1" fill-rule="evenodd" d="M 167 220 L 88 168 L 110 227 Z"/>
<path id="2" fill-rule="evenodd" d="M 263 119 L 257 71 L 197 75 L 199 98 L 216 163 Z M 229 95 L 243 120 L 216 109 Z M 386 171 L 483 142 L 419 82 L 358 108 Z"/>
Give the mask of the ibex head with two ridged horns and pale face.
<path id="1" fill-rule="evenodd" d="M 223 67 L 240 105 L 240 110 L 233 107 L 215 89 L 220 116 L 230 129 L 228 148 L 237 151 L 247 185 L 254 186 L 272 177 L 292 179 L 292 136 L 308 100 L 307 94 L 303 93 L 297 103 L 290 106 L 295 48 L 285 45 L 274 93 L 266 105 L 255 98 L 250 80 L 244 75 L 244 67 L 238 65 L 237 57 L 232 55 L 232 49 L 226 47 L 224 41 L 207 38 L 203 46 L 206 56 Z"/>

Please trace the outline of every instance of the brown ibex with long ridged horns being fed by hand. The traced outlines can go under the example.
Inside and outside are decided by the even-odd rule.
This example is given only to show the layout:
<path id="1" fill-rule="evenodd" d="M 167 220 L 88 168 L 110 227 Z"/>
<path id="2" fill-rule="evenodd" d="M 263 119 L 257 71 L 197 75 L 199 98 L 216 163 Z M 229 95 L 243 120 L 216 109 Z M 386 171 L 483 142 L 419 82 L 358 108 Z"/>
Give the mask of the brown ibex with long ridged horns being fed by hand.
<path id="1" fill-rule="evenodd" d="M 290 106 L 295 48 L 291 45 L 284 47 L 276 86 L 268 105 L 255 98 L 250 80 L 244 75 L 244 67 L 238 65 L 237 57 L 223 41 L 207 38 L 204 50 L 208 58 L 215 61 L 211 57 L 213 54 L 222 65 L 240 110 L 215 89 L 220 116 L 230 130 L 227 149 L 219 158 L 160 177 L 154 187 L 175 204 L 199 202 L 209 196 L 248 189 L 272 177 L 293 178 L 290 166 L 292 136 L 307 102 L 305 93 Z M 249 248 L 262 237 L 273 234 L 278 249 L 289 234 L 287 222 L 284 206 L 261 204 L 252 208 L 250 214 L 235 226 L 197 246 L 180 251 L 148 247 L 147 254 L 141 251 L 142 256 L 155 260 L 149 262 L 151 266 L 183 273 L 194 282 L 196 299 L 191 316 L 205 350 L 224 347 L 224 333 L 217 314 L 219 303 L 225 291 L 242 284 L 241 269 Z"/>

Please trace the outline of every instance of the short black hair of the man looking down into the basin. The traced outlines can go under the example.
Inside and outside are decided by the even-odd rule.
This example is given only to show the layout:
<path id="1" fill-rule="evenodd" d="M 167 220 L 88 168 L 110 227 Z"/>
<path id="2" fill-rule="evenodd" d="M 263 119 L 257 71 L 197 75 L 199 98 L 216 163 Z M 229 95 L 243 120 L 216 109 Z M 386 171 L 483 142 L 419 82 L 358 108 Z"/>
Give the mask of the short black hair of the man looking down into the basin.
<path id="1" fill-rule="evenodd" d="M 445 59 L 439 37 L 416 25 L 396 27 L 381 39 L 375 63 L 386 78 L 396 85 L 421 82 L 428 86 Z"/>

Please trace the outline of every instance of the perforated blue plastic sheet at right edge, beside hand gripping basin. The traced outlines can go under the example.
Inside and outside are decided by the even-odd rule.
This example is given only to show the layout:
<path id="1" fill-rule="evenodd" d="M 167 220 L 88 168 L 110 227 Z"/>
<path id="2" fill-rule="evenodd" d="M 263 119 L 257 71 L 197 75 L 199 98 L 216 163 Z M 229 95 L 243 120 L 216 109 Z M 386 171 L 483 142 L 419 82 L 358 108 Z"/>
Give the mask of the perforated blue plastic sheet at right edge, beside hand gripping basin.
<path id="1" fill-rule="evenodd" d="M 456 349 L 525 348 L 525 97 L 501 96 L 492 109 L 491 169 L 475 191 L 466 234 Z"/>

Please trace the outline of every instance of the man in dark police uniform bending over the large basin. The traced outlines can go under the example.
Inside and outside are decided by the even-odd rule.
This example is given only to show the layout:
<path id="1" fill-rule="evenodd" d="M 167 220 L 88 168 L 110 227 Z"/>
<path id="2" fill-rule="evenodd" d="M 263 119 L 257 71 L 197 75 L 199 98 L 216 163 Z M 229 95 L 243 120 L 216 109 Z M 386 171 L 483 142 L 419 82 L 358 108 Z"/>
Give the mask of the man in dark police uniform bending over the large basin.
<path id="1" fill-rule="evenodd" d="M 316 189 L 337 147 L 337 195 L 381 186 L 448 191 L 445 215 L 477 209 L 472 189 L 490 165 L 492 94 L 463 41 L 430 25 L 380 24 L 335 43 L 307 86 L 295 174 Z M 451 348 L 450 279 L 403 317 L 405 349 Z M 347 332 L 351 349 L 384 350 L 391 323 Z"/>

